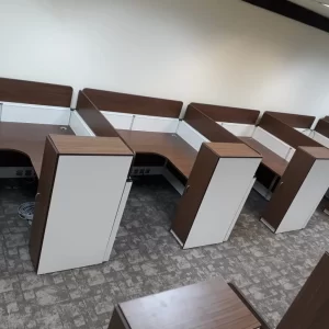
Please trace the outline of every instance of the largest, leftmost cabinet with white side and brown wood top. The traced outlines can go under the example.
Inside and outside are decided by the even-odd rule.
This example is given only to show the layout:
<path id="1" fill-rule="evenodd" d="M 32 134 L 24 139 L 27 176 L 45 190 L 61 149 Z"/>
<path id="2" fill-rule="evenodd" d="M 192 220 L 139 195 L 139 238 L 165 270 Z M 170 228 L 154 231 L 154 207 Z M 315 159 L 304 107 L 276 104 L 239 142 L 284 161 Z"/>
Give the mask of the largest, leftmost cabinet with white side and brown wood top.
<path id="1" fill-rule="evenodd" d="M 117 137 L 47 137 L 30 240 L 37 274 L 109 260 L 132 160 Z"/>

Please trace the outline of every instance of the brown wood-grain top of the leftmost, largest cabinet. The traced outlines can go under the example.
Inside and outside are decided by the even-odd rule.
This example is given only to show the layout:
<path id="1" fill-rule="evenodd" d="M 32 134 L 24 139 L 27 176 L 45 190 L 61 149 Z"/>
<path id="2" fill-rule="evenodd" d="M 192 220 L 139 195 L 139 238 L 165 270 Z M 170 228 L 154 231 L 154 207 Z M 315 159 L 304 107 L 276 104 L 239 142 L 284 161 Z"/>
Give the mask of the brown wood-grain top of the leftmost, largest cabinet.
<path id="1" fill-rule="evenodd" d="M 60 155 L 133 156 L 120 137 L 49 136 Z"/>

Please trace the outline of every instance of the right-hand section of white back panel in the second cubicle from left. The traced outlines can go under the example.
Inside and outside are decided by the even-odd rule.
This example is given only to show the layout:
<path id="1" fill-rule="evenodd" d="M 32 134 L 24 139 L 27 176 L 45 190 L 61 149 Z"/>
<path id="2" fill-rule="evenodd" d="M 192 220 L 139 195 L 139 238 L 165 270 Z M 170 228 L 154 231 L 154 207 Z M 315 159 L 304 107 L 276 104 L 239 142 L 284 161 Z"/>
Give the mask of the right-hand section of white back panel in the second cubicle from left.
<path id="1" fill-rule="evenodd" d="M 132 131 L 173 134 L 178 128 L 179 122 L 179 118 L 175 117 L 135 115 Z"/>

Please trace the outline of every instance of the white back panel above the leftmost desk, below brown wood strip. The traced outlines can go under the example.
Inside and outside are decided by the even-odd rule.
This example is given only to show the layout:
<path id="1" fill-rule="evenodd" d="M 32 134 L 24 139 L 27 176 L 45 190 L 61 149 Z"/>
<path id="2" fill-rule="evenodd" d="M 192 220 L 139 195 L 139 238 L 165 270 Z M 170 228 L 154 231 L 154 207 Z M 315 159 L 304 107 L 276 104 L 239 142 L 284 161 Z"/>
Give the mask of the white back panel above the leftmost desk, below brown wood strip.
<path id="1" fill-rule="evenodd" d="M 4 103 L 1 121 L 67 126 L 70 121 L 70 113 L 68 107 Z"/>

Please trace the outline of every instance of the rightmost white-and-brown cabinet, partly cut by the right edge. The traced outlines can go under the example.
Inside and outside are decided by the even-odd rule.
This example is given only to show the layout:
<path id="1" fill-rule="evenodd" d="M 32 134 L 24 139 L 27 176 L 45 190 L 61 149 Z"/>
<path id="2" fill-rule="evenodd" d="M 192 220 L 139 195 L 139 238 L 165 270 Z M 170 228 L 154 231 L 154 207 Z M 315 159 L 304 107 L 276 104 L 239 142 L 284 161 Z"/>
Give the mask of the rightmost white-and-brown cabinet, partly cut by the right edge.
<path id="1" fill-rule="evenodd" d="M 329 186 L 329 150 L 299 147 L 262 216 L 273 231 L 303 229 Z"/>

